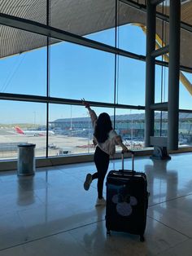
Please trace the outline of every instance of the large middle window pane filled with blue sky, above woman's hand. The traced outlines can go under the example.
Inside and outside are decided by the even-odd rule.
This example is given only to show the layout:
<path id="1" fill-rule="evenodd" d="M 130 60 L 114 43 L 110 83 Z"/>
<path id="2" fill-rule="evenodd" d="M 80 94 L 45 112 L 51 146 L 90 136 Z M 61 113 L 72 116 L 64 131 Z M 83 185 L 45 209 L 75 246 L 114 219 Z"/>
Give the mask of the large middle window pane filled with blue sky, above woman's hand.
<path id="1" fill-rule="evenodd" d="M 50 48 L 50 96 L 114 102 L 114 55 L 61 42 Z"/>

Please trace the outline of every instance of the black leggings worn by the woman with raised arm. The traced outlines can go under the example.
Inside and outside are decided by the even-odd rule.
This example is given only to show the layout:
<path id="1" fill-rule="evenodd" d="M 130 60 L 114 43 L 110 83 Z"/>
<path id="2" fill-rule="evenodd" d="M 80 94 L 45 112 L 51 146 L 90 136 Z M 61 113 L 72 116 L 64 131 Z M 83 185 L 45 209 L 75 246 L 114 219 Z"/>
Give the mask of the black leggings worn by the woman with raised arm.
<path id="1" fill-rule="evenodd" d="M 98 179 L 98 198 L 103 197 L 103 182 L 109 166 L 109 155 L 97 147 L 94 152 L 94 163 L 98 172 L 92 175 L 92 179 Z"/>

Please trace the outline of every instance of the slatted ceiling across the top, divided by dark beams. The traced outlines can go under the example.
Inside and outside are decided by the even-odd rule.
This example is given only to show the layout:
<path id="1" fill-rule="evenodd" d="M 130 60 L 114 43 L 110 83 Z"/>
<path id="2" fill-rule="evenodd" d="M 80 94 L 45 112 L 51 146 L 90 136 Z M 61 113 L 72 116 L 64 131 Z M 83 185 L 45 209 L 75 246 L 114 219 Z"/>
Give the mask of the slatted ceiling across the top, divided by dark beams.
<path id="1" fill-rule="evenodd" d="M 128 2 L 128 4 L 125 4 Z M 138 8 L 129 3 L 136 3 Z M 50 0 L 51 27 L 69 33 L 85 36 L 90 33 L 111 29 L 122 24 L 146 24 L 145 0 L 123 0 L 118 3 L 116 16 L 116 0 Z M 157 11 L 168 15 L 168 7 L 159 5 Z M 0 13 L 46 24 L 46 0 L 0 0 Z M 181 22 L 192 27 L 192 1 L 182 0 Z M 1 14 L 0 14 L 1 23 Z M 13 24 L 11 24 L 13 25 Z M 163 29 L 164 25 L 164 29 Z M 14 25 L 13 25 L 14 26 Z M 168 23 L 157 19 L 156 33 L 167 44 Z M 51 39 L 50 43 L 60 42 Z M 31 51 L 46 46 L 46 37 L 40 34 L 15 29 L 0 24 L 0 58 Z M 181 65 L 192 68 L 192 33 L 181 29 Z"/>

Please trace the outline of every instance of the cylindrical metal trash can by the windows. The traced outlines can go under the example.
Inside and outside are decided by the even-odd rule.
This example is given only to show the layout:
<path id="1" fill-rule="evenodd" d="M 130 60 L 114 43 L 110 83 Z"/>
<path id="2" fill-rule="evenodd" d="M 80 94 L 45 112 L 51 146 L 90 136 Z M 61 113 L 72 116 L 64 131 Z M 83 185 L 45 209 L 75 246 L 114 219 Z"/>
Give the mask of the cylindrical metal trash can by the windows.
<path id="1" fill-rule="evenodd" d="M 17 174 L 19 176 L 35 174 L 35 155 L 36 144 L 23 143 L 18 145 L 19 155 L 17 161 Z"/>

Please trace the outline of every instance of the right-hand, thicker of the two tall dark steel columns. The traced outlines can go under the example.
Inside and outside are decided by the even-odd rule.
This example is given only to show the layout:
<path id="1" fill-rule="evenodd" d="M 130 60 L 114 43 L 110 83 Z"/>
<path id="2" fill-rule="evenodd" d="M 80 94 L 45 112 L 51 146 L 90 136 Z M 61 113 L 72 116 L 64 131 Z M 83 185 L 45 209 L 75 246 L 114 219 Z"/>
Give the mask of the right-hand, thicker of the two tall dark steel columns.
<path id="1" fill-rule="evenodd" d="M 178 149 L 181 0 L 170 0 L 168 64 L 168 149 Z"/>

